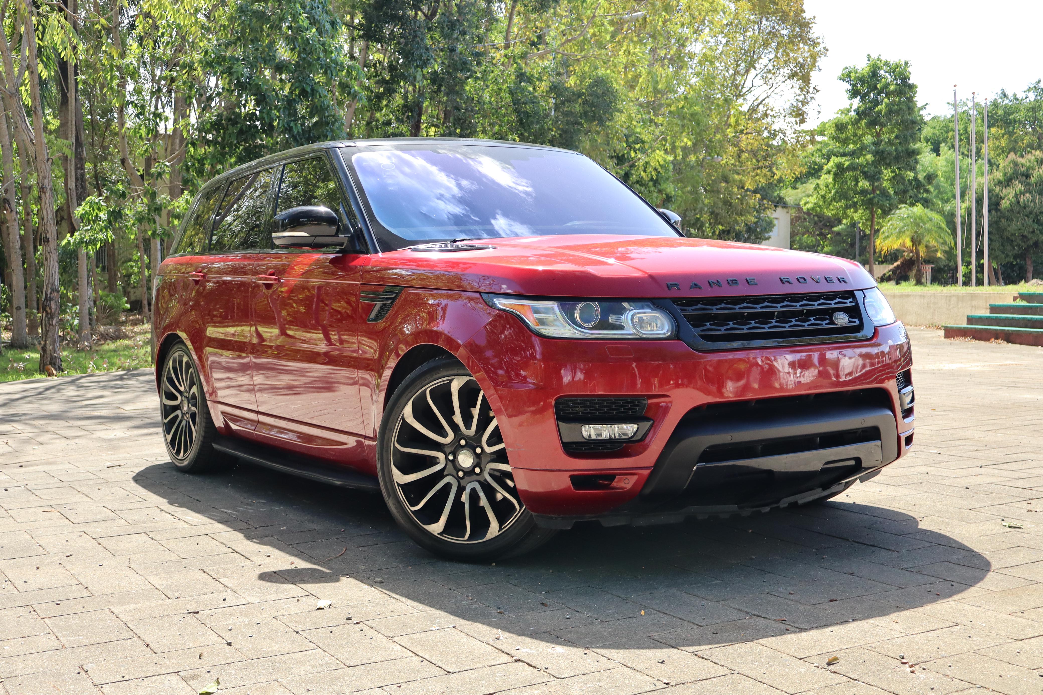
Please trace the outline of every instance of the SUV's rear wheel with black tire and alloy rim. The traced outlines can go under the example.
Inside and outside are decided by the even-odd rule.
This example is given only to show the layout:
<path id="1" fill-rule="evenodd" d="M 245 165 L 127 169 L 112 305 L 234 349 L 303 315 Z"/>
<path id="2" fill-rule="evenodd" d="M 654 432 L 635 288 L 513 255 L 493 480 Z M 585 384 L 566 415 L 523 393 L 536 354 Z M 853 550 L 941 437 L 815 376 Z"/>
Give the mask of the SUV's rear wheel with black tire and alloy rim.
<path id="1" fill-rule="evenodd" d="M 160 418 L 167 453 L 177 470 L 201 473 L 225 462 L 214 450 L 217 428 L 210 417 L 199 370 L 184 343 L 170 348 L 163 361 Z"/>

